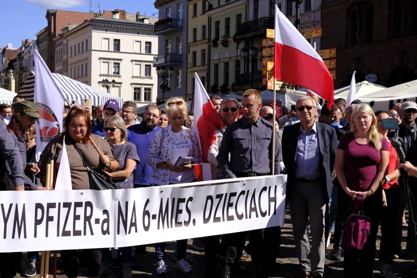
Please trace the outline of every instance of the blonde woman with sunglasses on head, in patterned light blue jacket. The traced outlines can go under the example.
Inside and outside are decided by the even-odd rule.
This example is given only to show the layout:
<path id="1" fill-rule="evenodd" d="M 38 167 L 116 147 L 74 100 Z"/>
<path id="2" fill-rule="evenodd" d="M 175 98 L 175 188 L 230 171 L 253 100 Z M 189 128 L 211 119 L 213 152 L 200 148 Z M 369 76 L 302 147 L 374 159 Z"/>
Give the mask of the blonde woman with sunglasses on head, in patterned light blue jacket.
<path id="1" fill-rule="evenodd" d="M 155 185 L 183 184 L 195 181 L 191 164 L 201 163 L 201 150 L 197 135 L 184 126 L 187 105 L 182 97 L 171 97 L 165 103 L 169 126 L 158 130 L 149 146 L 146 162 L 154 169 L 151 182 Z M 179 157 L 192 157 L 190 163 L 175 165 Z M 177 240 L 176 268 L 184 273 L 191 271 L 185 260 L 187 240 Z M 157 274 L 166 274 L 165 243 L 155 244 L 158 255 Z"/>

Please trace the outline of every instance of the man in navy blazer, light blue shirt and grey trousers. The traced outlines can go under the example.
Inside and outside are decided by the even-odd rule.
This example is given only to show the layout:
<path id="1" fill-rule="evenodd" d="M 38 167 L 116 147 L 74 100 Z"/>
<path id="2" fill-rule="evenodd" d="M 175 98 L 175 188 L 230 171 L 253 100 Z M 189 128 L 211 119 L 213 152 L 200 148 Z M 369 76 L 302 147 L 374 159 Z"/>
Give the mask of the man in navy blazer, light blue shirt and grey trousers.
<path id="1" fill-rule="evenodd" d="M 324 271 L 324 215 L 332 188 L 337 137 L 334 128 L 316 122 L 317 106 L 310 96 L 297 101 L 300 122 L 284 129 L 282 158 L 288 175 L 294 241 L 300 272 L 294 278 L 322 278 Z M 306 231 L 310 218 L 311 248 Z"/>

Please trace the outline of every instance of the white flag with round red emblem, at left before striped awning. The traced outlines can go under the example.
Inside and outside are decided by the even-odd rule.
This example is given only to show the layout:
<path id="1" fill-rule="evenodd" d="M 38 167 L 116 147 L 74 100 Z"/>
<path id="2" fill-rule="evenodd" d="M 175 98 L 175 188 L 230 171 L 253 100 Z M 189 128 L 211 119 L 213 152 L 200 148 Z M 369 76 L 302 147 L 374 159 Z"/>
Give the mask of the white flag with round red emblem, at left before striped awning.
<path id="1" fill-rule="evenodd" d="M 38 113 L 42 116 L 36 122 L 36 157 L 39 159 L 47 143 L 62 132 L 64 94 L 55 83 L 39 52 L 34 50 L 35 95 Z"/>

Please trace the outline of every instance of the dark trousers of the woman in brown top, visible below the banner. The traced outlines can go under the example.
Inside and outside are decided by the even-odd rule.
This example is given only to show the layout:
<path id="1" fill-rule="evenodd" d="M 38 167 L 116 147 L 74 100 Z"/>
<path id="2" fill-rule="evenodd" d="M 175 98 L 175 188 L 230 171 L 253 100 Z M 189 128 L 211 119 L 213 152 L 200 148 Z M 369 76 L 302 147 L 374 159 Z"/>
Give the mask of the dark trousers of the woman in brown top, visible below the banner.
<path id="1" fill-rule="evenodd" d="M 69 278 L 78 276 L 78 267 L 80 266 L 88 268 L 89 276 L 98 276 L 101 262 L 100 249 L 62 250 L 61 258 L 65 274 Z"/>

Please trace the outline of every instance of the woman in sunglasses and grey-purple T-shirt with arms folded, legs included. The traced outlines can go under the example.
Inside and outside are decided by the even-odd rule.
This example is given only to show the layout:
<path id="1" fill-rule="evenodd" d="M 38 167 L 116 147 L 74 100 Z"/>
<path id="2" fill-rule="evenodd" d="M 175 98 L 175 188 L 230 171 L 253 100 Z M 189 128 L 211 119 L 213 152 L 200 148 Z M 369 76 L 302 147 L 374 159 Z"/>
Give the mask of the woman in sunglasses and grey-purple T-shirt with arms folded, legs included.
<path id="1" fill-rule="evenodd" d="M 133 177 L 136 164 L 140 163 L 138 151 L 136 145 L 126 141 L 127 130 L 126 125 L 122 117 L 111 116 L 104 120 L 104 134 L 109 140 L 109 144 L 116 154 L 119 160 L 119 170 L 113 173 L 106 172 L 119 189 L 133 188 Z M 112 249 L 112 266 L 119 266 L 118 252 L 121 252 L 121 262 L 123 278 L 132 277 L 132 248 L 131 246 L 122 247 L 120 249 Z M 102 271 L 108 270 L 108 264 L 110 263 L 109 249 L 104 248 L 101 250 L 103 253 L 101 259 Z"/>

